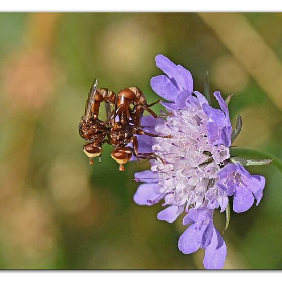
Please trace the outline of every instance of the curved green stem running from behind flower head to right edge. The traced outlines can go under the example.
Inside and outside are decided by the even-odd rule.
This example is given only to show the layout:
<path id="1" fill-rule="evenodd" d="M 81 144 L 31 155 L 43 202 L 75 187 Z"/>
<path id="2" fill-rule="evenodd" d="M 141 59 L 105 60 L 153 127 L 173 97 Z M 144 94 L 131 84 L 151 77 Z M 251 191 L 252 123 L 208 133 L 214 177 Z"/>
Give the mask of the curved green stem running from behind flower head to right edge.
<path id="1" fill-rule="evenodd" d="M 282 172 L 281 160 L 277 157 L 273 157 L 272 155 L 269 155 L 263 152 L 259 152 L 259 151 L 252 150 L 252 149 L 244 149 L 244 148 L 237 148 L 237 147 L 232 148 L 231 147 L 230 156 L 250 159 L 250 160 L 272 159 L 272 165 L 275 166 L 280 172 Z"/>

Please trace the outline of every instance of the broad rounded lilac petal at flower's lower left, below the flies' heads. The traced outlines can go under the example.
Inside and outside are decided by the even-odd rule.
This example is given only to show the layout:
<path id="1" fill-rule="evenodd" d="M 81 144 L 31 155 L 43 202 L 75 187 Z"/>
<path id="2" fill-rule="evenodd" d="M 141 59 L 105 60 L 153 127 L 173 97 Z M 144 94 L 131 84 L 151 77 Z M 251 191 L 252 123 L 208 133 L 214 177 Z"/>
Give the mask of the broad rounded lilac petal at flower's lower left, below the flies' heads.
<path id="1" fill-rule="evenodd" d="M 148 203 L 148 200 L 154 200 L 159 197 L 159 189 L 161 186 L 155 183 L 144 183 L 139 185 L 136 193 L 133 196 L 133 200 L 138 205 L 147 205 L 151 206 L 153 204 Z"/>

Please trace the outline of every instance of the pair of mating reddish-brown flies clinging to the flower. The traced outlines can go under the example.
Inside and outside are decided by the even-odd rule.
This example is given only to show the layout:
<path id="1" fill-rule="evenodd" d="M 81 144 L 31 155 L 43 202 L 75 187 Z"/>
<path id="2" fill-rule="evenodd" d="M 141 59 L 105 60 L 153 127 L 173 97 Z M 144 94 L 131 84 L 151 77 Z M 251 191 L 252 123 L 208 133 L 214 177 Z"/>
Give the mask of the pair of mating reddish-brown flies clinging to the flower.
<path id="1" fill-rule="evenodd" d="M 105 102 L 107 120 L 99 119 L 102 102 Z M 104 143 L 114 147 L 111 156 L 119 164 L 121 171 L 124 171 L 123 165 L 132 155 L 137 159 L 156 158 L 153 152 L 138 152 L 138 139 L 135 135 L 171 138 L 170 135 L 152 134 L 142 129 L 141 118 L 145 110 L 155 118 L 163 117 L 157 116 L 149 108 L 159 102 L 148 105 L 144 94 L 137 87 L 123 89 L 118 94 L 107 88 L 98 88 L 98 80 L 95 79 L 86 101 L 85 114 L 79 124 L 80 136 L 88 141 L 83 146 L 83 151 L 89 157 L 90 164 L 93 164 L 94 157 L 100 159 Z M 132 147 L 128 146 L 129 143 L 132 143 Z"/>

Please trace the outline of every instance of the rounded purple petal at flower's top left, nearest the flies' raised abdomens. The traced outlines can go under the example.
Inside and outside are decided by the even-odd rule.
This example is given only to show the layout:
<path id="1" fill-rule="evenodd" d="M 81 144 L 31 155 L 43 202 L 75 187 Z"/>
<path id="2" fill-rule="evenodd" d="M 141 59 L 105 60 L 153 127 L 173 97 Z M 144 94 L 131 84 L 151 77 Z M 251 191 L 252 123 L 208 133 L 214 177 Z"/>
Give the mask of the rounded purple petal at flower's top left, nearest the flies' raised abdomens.
<path id="1" fill-rule="evenodd" d="M 174 101 L 177 94 L 177 87 L 165 75 L 155 76 L 151 79 L 152 89 L 162 98 Z"/>

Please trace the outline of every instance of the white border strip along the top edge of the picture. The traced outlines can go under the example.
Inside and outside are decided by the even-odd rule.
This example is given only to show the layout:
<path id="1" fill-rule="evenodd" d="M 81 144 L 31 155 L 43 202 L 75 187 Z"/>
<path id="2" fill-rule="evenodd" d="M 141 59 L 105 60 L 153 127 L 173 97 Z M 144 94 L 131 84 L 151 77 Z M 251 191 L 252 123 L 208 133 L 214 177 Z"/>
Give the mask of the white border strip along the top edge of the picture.
<path id="1" fill-rule="evenodd" d="M 282 11 L 279 0 L 79 0 L 2 1 L 0 11 L 18 12 L 273 12 Z"/>

